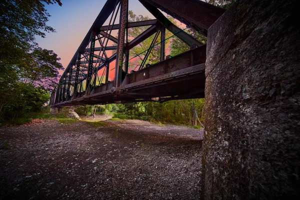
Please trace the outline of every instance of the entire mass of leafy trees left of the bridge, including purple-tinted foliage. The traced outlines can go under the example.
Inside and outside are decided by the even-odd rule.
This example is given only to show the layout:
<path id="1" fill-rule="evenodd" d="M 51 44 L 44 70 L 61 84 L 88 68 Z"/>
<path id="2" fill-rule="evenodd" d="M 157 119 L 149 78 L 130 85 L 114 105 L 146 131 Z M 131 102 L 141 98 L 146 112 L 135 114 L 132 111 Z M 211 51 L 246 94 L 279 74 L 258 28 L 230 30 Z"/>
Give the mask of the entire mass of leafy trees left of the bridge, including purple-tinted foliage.
<path id="1" fill-rule="evenodd" d="M 0 122 L 38 110 L 58 76 L 60 58 L 38 47 L 35 36 L 55 30 L 46 25 L 45 4 L 60 0 L 2 0 L 0 2 Z"/>

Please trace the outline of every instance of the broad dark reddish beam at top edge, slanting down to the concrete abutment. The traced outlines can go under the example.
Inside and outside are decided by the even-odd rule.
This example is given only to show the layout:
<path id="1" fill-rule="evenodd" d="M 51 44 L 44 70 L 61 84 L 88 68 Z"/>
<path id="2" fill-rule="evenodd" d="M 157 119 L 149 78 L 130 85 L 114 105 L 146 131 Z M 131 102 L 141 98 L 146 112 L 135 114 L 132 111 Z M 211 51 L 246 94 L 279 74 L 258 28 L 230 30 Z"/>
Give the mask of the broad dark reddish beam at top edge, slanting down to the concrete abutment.
<path id="1" fill-rule="evenodd" d="M 188 27 L 207 35 L 208 28 L 220 17 L 225 9 L 201 0 L 139 0 L 155 6 Z"/>

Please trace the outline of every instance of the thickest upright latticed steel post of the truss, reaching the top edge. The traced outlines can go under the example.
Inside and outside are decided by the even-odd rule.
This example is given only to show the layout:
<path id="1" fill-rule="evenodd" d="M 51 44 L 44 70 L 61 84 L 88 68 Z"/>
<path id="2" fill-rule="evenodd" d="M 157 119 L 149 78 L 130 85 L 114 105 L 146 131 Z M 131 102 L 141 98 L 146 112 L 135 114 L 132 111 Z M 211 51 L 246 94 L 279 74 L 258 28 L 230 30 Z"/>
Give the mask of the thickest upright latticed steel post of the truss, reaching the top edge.
<path id="1" fill-rule="evenodd" d="M 118 38 L 117 38 L 117 48 L 116 48 L 115 73 L 114 73 L 114 80 L 113 80 L 114 87 L 119 86 L 121 83 L 128 0 L 121 0 L 120 3 L 121 3 L 121 10 L 120 10 L 120 20 L 119 20 L 119 29 L 118 29 Z"/>

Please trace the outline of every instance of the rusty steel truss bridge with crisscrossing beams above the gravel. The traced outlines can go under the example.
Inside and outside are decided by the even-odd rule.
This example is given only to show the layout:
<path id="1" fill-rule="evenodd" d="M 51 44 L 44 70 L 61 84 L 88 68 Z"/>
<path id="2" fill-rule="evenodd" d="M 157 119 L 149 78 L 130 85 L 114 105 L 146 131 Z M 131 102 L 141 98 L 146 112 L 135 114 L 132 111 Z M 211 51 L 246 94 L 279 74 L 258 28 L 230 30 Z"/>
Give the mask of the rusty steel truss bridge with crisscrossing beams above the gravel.
<path id="1" fill-rule="evenodd" d="M 51 106 L 204 97 L 206 45 L 170 22 L 160 10 L 206 36 L 224 9 L 200 0 L 139 1 L 155 19 L 128 22 L 128 0 L 106 1 L 51 94 Z M 106 20 L 108 25 L 103 25 Z M 147 28 L 128 39 L 128 29 L 139 26 Z M 165 59 L 165 29 L 190 50 Z M 113 30 L 117 30 L 117 38 Z M 152 35 L 138 70 L 128 71 L 130 49 Z M 147 57 L 159 35 L 160 61 L 149 65 Z M 114 77 L 109 80 L 112 69 Z"/>

